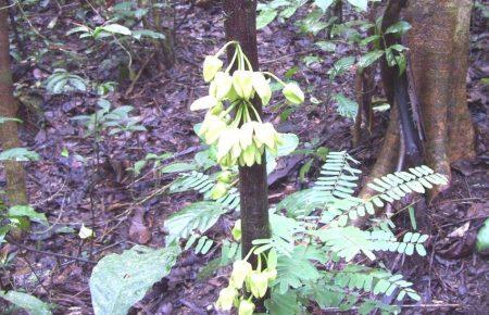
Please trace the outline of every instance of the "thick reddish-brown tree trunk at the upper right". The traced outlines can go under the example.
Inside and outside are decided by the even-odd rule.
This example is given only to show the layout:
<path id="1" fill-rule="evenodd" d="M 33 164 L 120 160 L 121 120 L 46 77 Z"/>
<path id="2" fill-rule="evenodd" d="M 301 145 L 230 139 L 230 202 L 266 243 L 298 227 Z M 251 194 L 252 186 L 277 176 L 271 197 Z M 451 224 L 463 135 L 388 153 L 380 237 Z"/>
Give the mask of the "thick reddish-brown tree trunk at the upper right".
<path id="1" fill-rule="evenodd" d="M 450 163 L 475 155 L 466 101 L 472 0 L 410 1 L 406 17 L 415 93 L 425 127 L 425 162 L 450 177 Z"/>

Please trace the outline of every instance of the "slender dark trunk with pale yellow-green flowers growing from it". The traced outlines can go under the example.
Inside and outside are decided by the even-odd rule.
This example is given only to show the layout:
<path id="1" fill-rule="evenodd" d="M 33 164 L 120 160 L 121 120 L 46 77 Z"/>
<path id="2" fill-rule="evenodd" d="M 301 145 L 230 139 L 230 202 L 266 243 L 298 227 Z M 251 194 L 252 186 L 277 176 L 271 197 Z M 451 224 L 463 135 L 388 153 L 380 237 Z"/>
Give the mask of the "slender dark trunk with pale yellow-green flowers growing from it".
<path id="1" fill-rule="evenodd" d="M 224 26 L 226 39 L 237 40 L 249 58 L 253 70 L 259 68 L 256 48 L 256 1 L 224 0 L 226 14 Z M 228 56 L 234 51 L 228 51 Z M 255 98 L 256 111 L 262 114 L 262 105 Z M 252 241 L 269 238 L 268 187 L 266 185 L 266 160 L 251 167 L 239 167 L 239 193 L 241 198 L 242 256 L 252 248 Z"/>

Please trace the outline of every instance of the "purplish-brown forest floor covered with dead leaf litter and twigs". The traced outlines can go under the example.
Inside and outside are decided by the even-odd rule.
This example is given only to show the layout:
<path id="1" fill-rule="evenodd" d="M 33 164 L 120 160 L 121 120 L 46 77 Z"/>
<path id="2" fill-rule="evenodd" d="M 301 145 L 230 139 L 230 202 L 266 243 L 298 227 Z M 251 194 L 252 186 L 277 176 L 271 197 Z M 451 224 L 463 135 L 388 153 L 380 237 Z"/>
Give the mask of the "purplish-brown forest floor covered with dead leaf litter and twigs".
<path id="1" fill-rule="evenodd" d="M 179 8 L 178 15 L 184 15 L 186 10 L 187 5 Z M 36 86 L 55 68 L 54 63 L 67 64 L 72 72 L 91 79 L 117 80 L 117 66 L 102 68 L 100 55 L 86 54 L 88 48 L 84 41 L 77 36 L 65 36 L 77 22 L 74 13 L 73 8 L 66 8 L 62 15 L 57 15 L 52 9 L 33 16 L 30 22 L 41 34 L 63 45 L 58 47 L 60 53 L 47 54 L 24 67 L 26 71 L 17 71 L 17 85 Z M 48 30 L 53 16 L 59 18 L 57 26 Z M 191 10 L 177 33 L 175 67 L 163 73 L 148 66 L 131 92 L 126 93 L 128 84 L 123 81 L 110 98 L 113 106 L 133 105 L 148 131 L 106 138 L 99 146 L 98 159 L 92 138 L 86 137 L 83 127 L 71 121 L 73 116 L 92 113 L 95 96 L 42 94 L 41 112 L 24 113 L 29 119 L 26 119 L 28 124 L 22 138 L 26 147 L 41 156 L 39 162 L 27 165 L 30 202 L 37 211 L 46 213 L 51 228 L 33 225 L 33 231 L 24 239 L 22 248 L 10 247 L 10 251 L 18 249 L 18 252 L 2 268 L 1 288 L 24 288 L 43 301 L 57 304 L 55 314 L 91 314 L 88 279 L 93 264 L 46 252 L 95 262 L 134 244 L 163 247 L 164 219 L 195 201 L 196 196 L 161 193 L 161 188 L 171 182 L 172 176 L 156 176 L 149 171 L 142 177 L 135 177 L 126 168 L 148 153 L 180 152 L 178 160 L 186 160 L 198 151 L 199 139 L 192 126 L 200 122 L 202 115 L 190 112 L 189 104 L 205 92 L 200 65 L 205 54 L 215 52 L 224 43 L 223 34 L 223 14 L 218 5 Z M 474 28 L 467 81 L 469 108 L 478 133 L 478 156 L 453 165 L 453 186 L 431 204 L 424 205 L 423 199 L 416 200 L 418 228 L 431 236 L 428 256 L 385 256 L 385 264 L 416 284 L 423 298 L 421 308 L 403 308 L 405 314 L 489 312 L 488 259 L 474 250 L 476 232 L 484 218 L 489 216 L 489 96 L 488 86 L 479 83 L 480 78 L 489 76 L 488 39 L 487 29 Z M 37 38 L 25 48 L 33 53 L 41 46 Z M 278 110 L 267 110 L 266 119 L 278 123 L 280 131 L 297 134 L 302 143 L 318 141 L 331 150 L 349 150 L 362 162 L 362 169 L 367 174 L 381 144 L 387 116 L 377 114 L 374 133 L 365 135 L 362 143 L 352 148 L 352 121 L 337 114 L 331 96 L 342 92 L 353 97 L 354 74 L 341 75 L 331 83 L 326 73 L 335 60 L 355 52 L 346 43 L 338 45 L 335 55 L 316 50 L 314 53 L 323 61 L 306 66 L 302 58 L 312 52 L 312 39 L 298 35 L 291 23 L 275 22 L 260 32 L 262 68 L 283 76 L 287 70 L 300 65 L 293 79 L 308 87 L 308 94 L 317 100 L 317 104 L 306 102 L 293 111 L 286 122 L 280 122 Z M 66 61 L 66 54 L 61 50 L 70 51 L 73 58 Z M 106 51 L 101 54 L 110 59 Z M 140 54 L 135 62 L 136 67 L 148 58 Z M 381 88 L 376 88 L 376 91 L 381 97 Z M 63 153 L 66 150 L 68 154 Z M 77 159 L 78 155 L 86 162 Z M 298 180 L 298 169 L 305 158 L 289 167 L 291 159 L 278 164 L 278 172 L 286 171 L 283 172 L 285 176 L 277 177 L 271 187 L 271 203 L 308 185 L 308 179 L 305 182 Z M 309 178 L 315 178 L 318 165 L 318 162 L 313 165 Z M 0 185 L 4 182 L 0 181 Z M 412 223 L 405 212 L 398 215 L 396 222 L 411 228 Z M 78 237 L 82 224 L 93 228 L 95 239 Z M 229 222 L 226 219 L 212 229 L 216 238 L 228 232 Z M 199 270 L 216 254 L 216 251 L 206 255 L 186 253 L 171 275 L 134 306 L 133 314 L 216 314 L 212 304 L 226 285 L 228 270 L 198 279 Z M 431 307 L 434 304 L 437 307 Z M 311 311 L 325 314 L 314 308 Z"/>

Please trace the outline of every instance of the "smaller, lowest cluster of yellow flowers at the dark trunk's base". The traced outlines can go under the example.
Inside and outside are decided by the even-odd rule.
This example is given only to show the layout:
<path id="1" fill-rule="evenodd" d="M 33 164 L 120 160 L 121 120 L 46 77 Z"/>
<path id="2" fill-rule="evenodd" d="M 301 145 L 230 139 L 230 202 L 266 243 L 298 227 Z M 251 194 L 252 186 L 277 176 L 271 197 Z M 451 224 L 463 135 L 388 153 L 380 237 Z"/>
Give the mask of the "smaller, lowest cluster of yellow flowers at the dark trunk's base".
<path id="1" fill-rule="evenodd" d="M 274 250 L 269 251 L 266 260 L 267 267 L 263 270 L 261 270 L 261 254 L 258 255 L 259 263 L 255 270 L 247 262 L 248 256 L 233 264 L 229 286 L 221 290 L 220 298 L 215 303 L 217 308 L 229 311 L 235 305 L 238 307 L 239 315 L 253 314 L 254 304 L 252 299 L 265 297 L 268 282 L 277 277 L 277 254 Z M 239 297 L 241 289 L 244 289 L 244 293 Z M 248 298 L 246 298 L 247 293 L 249 294 Z"/>

